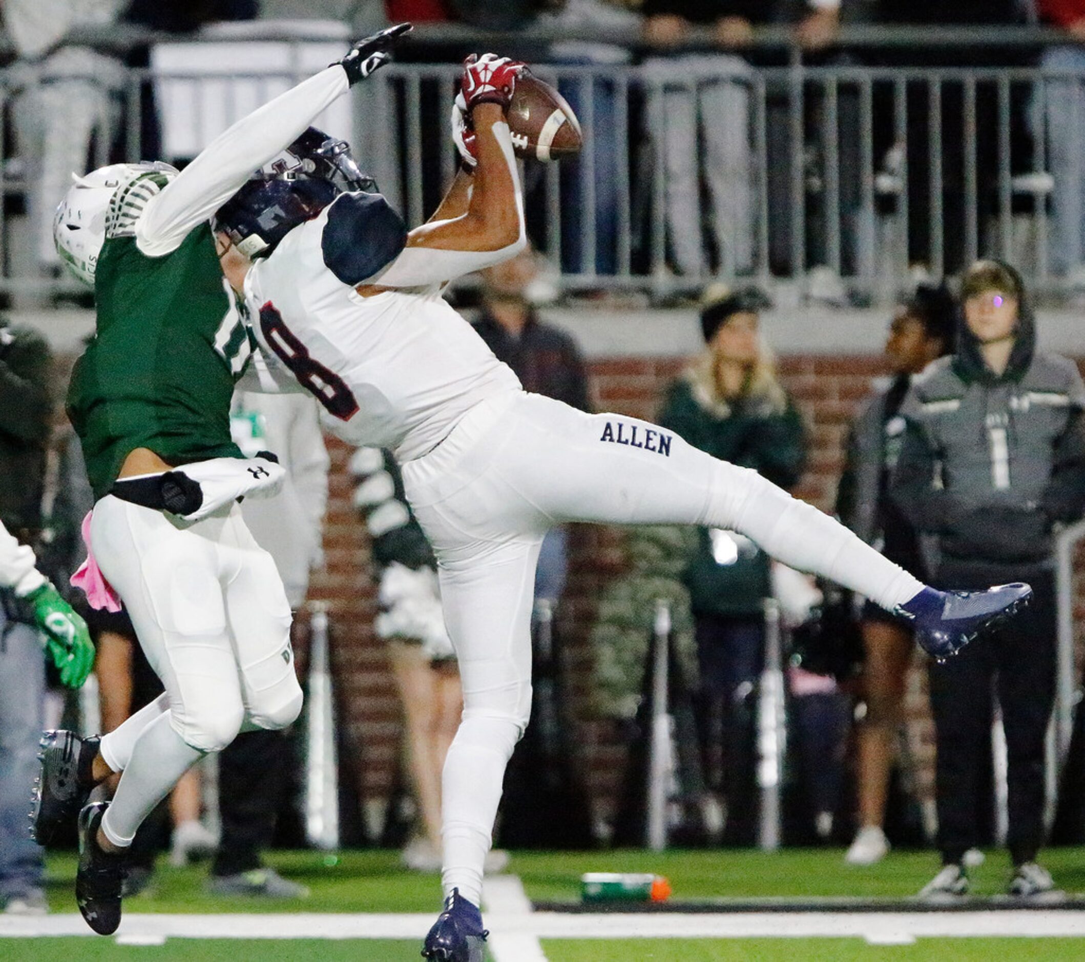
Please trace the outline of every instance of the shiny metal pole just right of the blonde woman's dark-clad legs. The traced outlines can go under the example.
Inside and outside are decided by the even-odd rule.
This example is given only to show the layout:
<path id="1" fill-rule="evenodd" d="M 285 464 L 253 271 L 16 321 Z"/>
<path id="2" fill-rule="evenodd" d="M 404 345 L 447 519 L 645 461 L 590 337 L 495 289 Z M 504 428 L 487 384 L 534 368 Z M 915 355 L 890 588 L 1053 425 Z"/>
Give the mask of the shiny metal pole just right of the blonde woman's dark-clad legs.
<path id="1" fill-rule="evenodd" d="M 780 605 L 775 598 L 766 598 L 765 668 L 761 675 L 761 697 L 757 700 L 757 784 L 761 787 L 757 842 L 762 851 L 776 851 L 783 835 L 780 795 L 787 739 Z"/>

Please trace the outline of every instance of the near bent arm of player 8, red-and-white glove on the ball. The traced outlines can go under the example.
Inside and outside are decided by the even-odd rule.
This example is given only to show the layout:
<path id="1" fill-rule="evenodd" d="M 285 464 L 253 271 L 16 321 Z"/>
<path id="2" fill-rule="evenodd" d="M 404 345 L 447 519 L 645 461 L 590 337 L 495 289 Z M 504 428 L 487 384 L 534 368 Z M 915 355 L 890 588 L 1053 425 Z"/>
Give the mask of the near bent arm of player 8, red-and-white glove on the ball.
<path id="1" fill-rule="evenodd" d="M 489 60 L 487 60 L 487 57 Z M 379 287 L 417 287 L 498 264 L 523 249 L 523 194 L 505 111 L 522 65 L 469 57 L 464 107 L 474 126 L 472 174 L 461 171 L 437 215 L 414 228 L 406 249 L 379 277 Z"/>

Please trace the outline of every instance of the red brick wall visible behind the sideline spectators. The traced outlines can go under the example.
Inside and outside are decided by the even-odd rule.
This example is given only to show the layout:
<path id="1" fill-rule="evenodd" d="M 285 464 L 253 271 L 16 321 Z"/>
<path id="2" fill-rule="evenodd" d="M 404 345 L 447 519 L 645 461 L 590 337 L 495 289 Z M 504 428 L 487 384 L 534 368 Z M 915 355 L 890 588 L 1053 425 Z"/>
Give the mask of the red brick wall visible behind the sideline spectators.
<path id="1" fill-rule="evenodd" d="M 652 419 L 666 384 L 682 369 L 681 359 L 610 358 L 591 364 L 592 387 L 600 410 Z M 842 446 L 856 403 L 869 390 L 870 379 L 883 373 L 877 358 L 789 357 L 780 362 L 787 387 L 800 403 L 810 429 L 809 469 L 796 491 L 821 508 L 832 503 L 842 463 Z M 350 506 L 346 474 L 349 450 L 329 439 L 332 480 L 326 528 L 327 568 L 316 575 L 310 595 L 332 605 L 333 665 L 341 713 L 356 754 L 363 798 L 384 795 L 394 777 L 399 735 L 399 709 L 380 640 L 373 634 L 373 583 L 365 529 Z M 609 812 L 621 777 L 623 749 L 612 726 L 590 717 L 587 684 L 591 677 L 587 634 L 596 601 L 607 583 L 621 576 L 623 535 L 620 529 L 576 526 L 572 570 L 563 610 L 562 637 L 567 641 L 570 678 L 576 700 L 577 743 L 586 777 L 600 812 Z M 304 642 L 301 645 L 304 650 Z M 303 654 L 304 657 L 304 654 Z M 911 691 L 914 741 L 929 761 L 929 726 L 921 672 Z M 926 767 L 926 766 L 924 766 Z"/>

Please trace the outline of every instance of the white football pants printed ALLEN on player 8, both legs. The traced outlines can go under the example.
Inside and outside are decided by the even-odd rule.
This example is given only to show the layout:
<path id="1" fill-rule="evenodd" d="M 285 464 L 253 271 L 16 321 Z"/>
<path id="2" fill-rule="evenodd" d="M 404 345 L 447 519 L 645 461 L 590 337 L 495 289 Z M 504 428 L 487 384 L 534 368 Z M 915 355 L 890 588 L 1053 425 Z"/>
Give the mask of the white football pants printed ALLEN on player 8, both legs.
<path id="1" fill-rule="evenodd" d="M 535 562 L 565 522 L 690 524 L 745 535 L 768 554 L 892 608 L 922 583 L 843 525 L 755 471 L 668 431 L 505 395 L 473 408 L 403 465 L 407 498 L 438 562 L 463 720 L 444 770 L 444 874 L 475 905 L 501 781 L 531 713 Z"/>

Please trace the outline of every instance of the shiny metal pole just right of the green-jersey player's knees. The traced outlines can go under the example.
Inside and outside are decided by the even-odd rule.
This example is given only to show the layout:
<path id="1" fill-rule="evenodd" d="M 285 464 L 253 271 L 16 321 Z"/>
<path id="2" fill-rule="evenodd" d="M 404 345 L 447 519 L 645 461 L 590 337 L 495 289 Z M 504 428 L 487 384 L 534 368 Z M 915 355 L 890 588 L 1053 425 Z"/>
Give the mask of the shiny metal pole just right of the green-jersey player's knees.
<path id="1" fill-rule="evenodd" d="M 339 762 L 335 706 L 328 656 L 328 604 L 312 602 L 305 726 L 305 838 L 314 848 L 339 848 Z"/>

